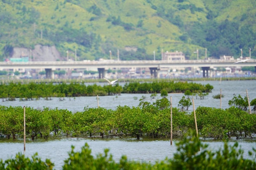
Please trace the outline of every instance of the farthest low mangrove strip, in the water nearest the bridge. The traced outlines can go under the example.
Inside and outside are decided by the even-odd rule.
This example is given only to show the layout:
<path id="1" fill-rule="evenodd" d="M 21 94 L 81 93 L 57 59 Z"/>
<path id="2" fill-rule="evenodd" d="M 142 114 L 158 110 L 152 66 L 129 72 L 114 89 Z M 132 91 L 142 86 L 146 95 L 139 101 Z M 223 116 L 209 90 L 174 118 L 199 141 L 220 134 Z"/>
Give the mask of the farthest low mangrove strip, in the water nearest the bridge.
<path id="1" fill-rule="evenodd" d="M 0 85 L 0 98 L 5 100 L 37 100 L 44 98 L 50 100 L 51 97 L 79 97 L 79 96 L 104 96 L 120 93 L 160 93 L 167 92 L 211 92 L 212 85 L 202 85 L 193 82 L 151 82 L 151 83 L 126 83 L 124 87 L 116 85 L 85 85 L 84 83 L 34 83 L 28 84 L 8 83 Z"/>

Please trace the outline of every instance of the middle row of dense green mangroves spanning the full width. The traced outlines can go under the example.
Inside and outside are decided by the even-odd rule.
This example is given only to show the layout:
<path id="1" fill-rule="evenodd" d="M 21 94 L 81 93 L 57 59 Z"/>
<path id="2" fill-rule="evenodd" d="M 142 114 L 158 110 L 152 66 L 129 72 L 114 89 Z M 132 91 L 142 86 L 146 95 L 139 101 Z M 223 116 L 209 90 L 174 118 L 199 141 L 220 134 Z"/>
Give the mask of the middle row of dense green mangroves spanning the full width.
<path id="1" fill-rule="evenodd" d="M 166 98 L 163 98 L 164 100 Z M 166 99 L 167 100 L 167 99 Z M 159 100 L 159 102 L 163 102 Z M 163 102 L 165 103 L 165 101 Z M 0 134 L 13 139 L 23 137 L 23 107 L 0 106 Z M 195 128 L 194 113 L 172 108 L 173 137 L 188 135 Z M 228 109 L 197 107 L 197 128 L 206 138 L 256 138 L 256 114 L 237 107 Z M 67 109 L 43 110 L 26 108 L 26 135 L 32 140 L 61 137 L 170 137 L 170 106 L 145 104 L 138 107 L 118 106 L 116 110 L 102 107 L 84 108 L 72 113 Z"/>

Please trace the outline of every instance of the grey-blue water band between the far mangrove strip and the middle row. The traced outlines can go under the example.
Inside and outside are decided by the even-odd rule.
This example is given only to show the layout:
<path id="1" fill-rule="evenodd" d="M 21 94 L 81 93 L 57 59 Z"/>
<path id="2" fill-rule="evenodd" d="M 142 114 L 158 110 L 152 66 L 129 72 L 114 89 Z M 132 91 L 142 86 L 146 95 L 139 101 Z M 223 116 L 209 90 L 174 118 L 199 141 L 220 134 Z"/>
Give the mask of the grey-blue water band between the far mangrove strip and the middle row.
<path id="1" fill-rule="evenodd" d="M 228 108 L 228 100 L 231 100 L 234 95 L 241 97 L 246 96 L 246 89 L 249 94 L 250 100 L 256 98 L 256 80 L 243 80 L 243 81 L 195 81 L 200 84 L 210 84 L 213 85 L 213 90 L 205 97 L 204 100 L 199 100 L 194 97 L 195 107 L 198 106 L 207 106 L 207 107 L 220 107 L 220 100 L 213 99 L 212 96 L 220 94 L 220 89 L 224 97 L 221 99 L 221 108 Z M 105 85 L 105 83 L 98 83 L 98 85 Z M 120 83 L 124 85 L 124 83 Z M 99 105 L 100 107 L 108 109 L 116 109 L 117 106 L 138 106 L 142 96 L 146 97 L 146 101 L 155 102 L 155 100 L 150 100 L 151 94 L 121 94 L 117 96 L 99 96 Z M 178 103 L 181 100 L 183 93 L 169 93 L 168 99 L 172 96 L 172 107 L 178 107 Z M 137 100 L 134 100 L 134 98 Z M 160 94 L 157 94 L 156 99 L 160 99 Z M 4 106 L 29 106 L 33 108 L 55 108 L 59 109 L 68 109 L 72 112 L 83 111 L 84 107 L 98 107 L 97 97 L 76 97 L 76 98 L 64 98 L 64 101 L 60 101 L 60 98 L 52 98 L 52 100 L 32 100 L 32 101 L 5 101 L 0 100 L 0 104 Z M 189 110 L 192 111 L 193 107 L 190 106 Z"/>

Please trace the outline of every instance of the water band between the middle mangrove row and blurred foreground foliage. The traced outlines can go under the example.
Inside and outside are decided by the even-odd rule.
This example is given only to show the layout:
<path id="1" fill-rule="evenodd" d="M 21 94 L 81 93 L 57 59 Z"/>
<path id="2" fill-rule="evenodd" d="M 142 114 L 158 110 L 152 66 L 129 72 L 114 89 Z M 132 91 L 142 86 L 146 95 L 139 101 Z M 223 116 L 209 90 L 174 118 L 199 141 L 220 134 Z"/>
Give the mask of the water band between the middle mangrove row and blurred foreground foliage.
<path id="1" fill-rule="evenodd" d="M 229 145 L 233 145 L 236 140 L 230 140 Z M 26 157 L 31 156 L 37 152 L 38 156 L 42 159 L 51 159 L 55 164 L 56 169 L 61 169 L 64 165 L 64 160 L 68 158 L 68 152 L 71 151 L 71 145 L 75 146 L 75 151 L 81 151 L 82 146 L 85 143 L 89 144 L 92 150 L 92 155 L 96 156 L 99 153 L 104 153 L 104 149 L 108 148 L 109 153 L 113 155 L 113 159 L 118 162 L 122 155 L 126 155 L 129 160 L 146 161 L 154 163 L 157 160 L 164 160 L 166 157 L 171 159 L 173 153 L 177 152 L 176 142 L 178 139 L 173 140 L 173 144 L 170 145 L 168 139 L 156 139 L 148 140 L 135 138 L 111 138 L 111 139 L 88 139 L 80 138 L 76 139 L 60 139 L 60 140 L 36 140 L 26 142 L 26 151 L 23 150 L 23 141 L 19 140 L 12 142 L 12 140 L 0 140 L 1 148 L 4 148 L 4 152 L 1 152 L 1 159 L 14 158 L 16 153 L 24 153 Z M 209 144 L 208 149 L 216 151 L 223 148 L 222 141 L 203 140 L 203 143 Z M 244 157 L 248 156 L 248 151 L 256 147 L 254 140 L 239 140 L 239 146 L 244 150 Z"/>

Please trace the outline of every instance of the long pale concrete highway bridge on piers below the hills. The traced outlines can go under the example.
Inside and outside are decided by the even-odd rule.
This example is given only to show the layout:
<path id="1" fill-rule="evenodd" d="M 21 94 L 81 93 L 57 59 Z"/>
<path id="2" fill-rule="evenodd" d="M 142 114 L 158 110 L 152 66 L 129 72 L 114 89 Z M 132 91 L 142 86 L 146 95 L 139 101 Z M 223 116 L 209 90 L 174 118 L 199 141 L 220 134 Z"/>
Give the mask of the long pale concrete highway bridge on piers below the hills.
<path id="1" fill-rule="evenodd" d="M 97 68 L 99 78 L 104 77 L 107 68 L 149 68 L 152 75 L 156 77 L 157 70 L 161 68 L 178 67 L 201 67 L 203 77 L 208 77 L 210 67 L 236 67 L 254 66 L 256 70 L 256 60 L 251 59 L 246 63 L 236 63 L 236 60 L 184 60 L 184 61 L 165 61 L 165 60 L 134 60 L 134 61 L 41 61 L 41 62 L 0 62 L 0 70 L 3 69 L 45 69 L 46 77 L 51 78 L 56 69 L 81 69 Z"/>

